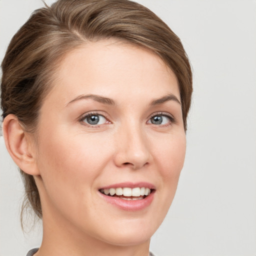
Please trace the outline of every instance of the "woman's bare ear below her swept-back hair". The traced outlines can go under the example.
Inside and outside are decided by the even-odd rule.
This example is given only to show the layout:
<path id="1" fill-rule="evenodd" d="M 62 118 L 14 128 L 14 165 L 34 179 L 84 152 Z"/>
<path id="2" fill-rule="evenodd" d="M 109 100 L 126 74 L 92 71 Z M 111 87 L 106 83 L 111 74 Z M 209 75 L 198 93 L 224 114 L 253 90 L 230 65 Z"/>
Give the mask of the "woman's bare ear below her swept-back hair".
<path id="1" fill-rule="evenodd" d="M 8 114 L 2 123 L 6 148 L 13 161 L 27 174 L 38 175 L 36 152 L 31 135 L 28 135 L 14 114 Z"/>

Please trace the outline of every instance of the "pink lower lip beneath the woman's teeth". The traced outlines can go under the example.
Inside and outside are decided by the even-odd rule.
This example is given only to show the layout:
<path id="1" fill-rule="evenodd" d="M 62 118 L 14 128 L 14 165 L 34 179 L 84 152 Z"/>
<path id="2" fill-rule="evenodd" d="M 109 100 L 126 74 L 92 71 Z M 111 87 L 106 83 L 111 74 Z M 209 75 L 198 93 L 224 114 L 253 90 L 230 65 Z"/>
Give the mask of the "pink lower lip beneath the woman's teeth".
<path id="1" fill-rule="evenodd" d="M 107 202 L 117 206 L 122 210 L 137 211 L 137 210 L 142 210 L 150 205 L 150 203 L 153 200 L 154 192 L 155 191 L 151 192 L 145 198 L 139 199 L 139 200 L 124 200 L 119 197 L 108 196 L 108 195 L 102 194 L 101 192 L 99 193 Z"/>

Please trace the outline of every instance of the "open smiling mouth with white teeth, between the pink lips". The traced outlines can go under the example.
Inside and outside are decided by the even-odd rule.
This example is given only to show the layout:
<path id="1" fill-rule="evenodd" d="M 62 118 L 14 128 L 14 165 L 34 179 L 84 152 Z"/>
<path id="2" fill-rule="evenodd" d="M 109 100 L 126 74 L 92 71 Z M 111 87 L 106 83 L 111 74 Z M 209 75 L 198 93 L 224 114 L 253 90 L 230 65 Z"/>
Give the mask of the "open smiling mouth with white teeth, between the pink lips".
<path id="1" fill-rule="evenodd" d="M 154 189 L 148 187 L 117 187 L 117 188 L 101 188 L 102 194 L 119 197 L 123 200 L 141 200 L 147 197 Z"/>

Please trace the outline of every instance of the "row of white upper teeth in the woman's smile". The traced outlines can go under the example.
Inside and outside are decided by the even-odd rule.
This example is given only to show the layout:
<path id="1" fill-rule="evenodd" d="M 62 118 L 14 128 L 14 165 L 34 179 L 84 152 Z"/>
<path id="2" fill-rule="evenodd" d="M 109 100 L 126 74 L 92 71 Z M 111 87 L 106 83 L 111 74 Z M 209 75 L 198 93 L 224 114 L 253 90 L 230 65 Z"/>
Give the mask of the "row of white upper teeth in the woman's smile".
<path id="1" fill-rule="evenodd" d="M 110 195 L 124 195 L 124 196 L 141 196 L 150 194 L 150 188 L 148 187 L 117 187 L 117 188 L 102 188 L 101 193 Z"/>

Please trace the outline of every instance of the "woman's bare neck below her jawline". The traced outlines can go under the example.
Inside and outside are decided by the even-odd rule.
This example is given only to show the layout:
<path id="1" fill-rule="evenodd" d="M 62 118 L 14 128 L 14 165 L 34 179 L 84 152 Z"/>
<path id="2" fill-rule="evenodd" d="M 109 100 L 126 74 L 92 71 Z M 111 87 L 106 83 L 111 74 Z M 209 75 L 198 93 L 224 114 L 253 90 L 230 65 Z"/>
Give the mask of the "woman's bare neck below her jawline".
<path id="1" fill-rule="evenodd" d="M 54 219 L 52 221 L 52 219 Z M 140 244 L 111 244 L 72 227 L 68 221 L 43 216 L 42 244 L 34 256 L 148 256 L 149 241 Z"/>

